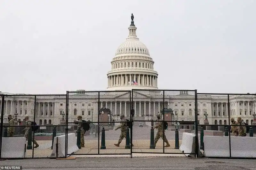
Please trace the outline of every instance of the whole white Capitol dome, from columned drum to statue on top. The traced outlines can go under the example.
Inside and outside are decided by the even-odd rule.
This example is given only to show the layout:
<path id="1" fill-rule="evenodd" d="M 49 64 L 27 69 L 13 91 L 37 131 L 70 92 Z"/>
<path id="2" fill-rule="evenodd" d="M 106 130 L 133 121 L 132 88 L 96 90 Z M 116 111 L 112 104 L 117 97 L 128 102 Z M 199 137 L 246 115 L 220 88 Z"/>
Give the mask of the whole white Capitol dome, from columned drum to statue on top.
<path id="1" fill-rule="evenodd" d="M 108 71 L 108 90 L 157 89 L 158 73 L 149 50 L 137 37 L 132 15 L 129 35 L 117 48 Z"/>

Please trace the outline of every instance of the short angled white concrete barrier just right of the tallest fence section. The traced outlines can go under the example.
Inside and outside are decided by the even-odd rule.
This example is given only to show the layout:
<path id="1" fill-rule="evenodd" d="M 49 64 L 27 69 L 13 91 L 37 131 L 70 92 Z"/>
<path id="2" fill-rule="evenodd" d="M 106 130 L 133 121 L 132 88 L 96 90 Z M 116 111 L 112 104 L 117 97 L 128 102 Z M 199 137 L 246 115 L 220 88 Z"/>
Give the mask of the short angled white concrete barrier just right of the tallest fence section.
<path id="1" fill-rule="evenodd" d="M 195 154 L 190 154 L 190 153 L 196 153 L 195 144 L 196 144 L 196 135 L 193 133 L 183 132 L 180 151 L 186 153 L 185 154 L 186 156 L 195 157 Z M 197 143 L 197 148 L 199 151 L 198 143 Z"/>

